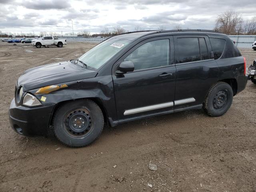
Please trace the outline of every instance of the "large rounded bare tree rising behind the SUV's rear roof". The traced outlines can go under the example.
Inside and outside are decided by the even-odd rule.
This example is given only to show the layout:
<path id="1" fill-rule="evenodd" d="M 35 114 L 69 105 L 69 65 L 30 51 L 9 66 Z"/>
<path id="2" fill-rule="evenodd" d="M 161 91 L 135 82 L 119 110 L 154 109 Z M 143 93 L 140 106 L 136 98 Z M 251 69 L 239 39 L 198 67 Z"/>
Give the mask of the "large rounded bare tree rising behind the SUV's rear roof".
<path id="1" fill-rule="evenodd" d="M 234 11 L 226 11 L 216 20 L 215 29 L 225 34 L 238 34 L 242 26 L 242 15 Z"/>

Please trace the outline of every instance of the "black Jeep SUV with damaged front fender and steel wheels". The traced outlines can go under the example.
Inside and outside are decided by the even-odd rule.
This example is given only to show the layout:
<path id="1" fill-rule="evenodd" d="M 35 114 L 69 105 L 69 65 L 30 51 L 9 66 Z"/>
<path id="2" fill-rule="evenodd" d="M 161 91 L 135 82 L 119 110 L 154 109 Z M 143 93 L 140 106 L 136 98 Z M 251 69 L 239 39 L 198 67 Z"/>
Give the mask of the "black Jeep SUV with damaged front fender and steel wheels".
<path id="1" fill-rule="evenodd" d="M 10 104 L 10 124 L 26 136 L 52 126 L 68 146 L 96 140 L 104 123 L 204 108 L 221 116 L 247 82 L 246 61 L 211 30 L 130 32 L 80 58 L 26 70 Z"/>

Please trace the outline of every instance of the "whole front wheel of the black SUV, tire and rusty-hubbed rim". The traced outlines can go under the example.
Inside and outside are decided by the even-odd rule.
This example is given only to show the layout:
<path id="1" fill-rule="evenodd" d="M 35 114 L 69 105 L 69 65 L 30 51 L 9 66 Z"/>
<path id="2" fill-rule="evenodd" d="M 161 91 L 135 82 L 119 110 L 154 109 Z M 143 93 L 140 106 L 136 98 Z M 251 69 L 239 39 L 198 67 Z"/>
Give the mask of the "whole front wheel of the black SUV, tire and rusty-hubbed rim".
<path id="1" fill-rule="evenodd" d="M 84 147 L 101 134 L 104 117 L 100 107 L 92 100 L 68 102 L 56 111 L 53 119 L 55 136 L 70 147 Z"/>

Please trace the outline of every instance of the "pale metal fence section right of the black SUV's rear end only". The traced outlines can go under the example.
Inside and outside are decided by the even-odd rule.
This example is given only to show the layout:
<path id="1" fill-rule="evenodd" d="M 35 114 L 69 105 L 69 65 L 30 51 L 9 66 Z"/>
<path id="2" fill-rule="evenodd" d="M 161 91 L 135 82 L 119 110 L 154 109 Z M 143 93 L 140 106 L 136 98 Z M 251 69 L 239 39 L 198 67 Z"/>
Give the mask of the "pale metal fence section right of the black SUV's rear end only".
<path id="1" fill-rule="evenodd" d="M 229 35 L 230 39 L 236 42 L 238 48 L 252 48 L 256 41 L 256 35 Z"/>

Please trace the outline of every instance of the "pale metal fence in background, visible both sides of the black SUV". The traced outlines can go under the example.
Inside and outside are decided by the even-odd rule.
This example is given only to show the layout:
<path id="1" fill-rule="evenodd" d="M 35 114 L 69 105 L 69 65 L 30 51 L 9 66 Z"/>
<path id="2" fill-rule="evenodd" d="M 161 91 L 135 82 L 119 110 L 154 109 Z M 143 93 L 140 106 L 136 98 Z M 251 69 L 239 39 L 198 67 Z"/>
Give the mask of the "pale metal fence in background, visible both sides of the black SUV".
<path id="1" fill-rule="evenodd" d="M 230 35 L 230 39 L 236 42 L 238 48 L 252 48 L 252 43 L 256 41 L 256 35 Z M 83 37 L 68 37 L 67 42 L 93 42 L 100 43 L 107 38 L 83 38 Z"/>

